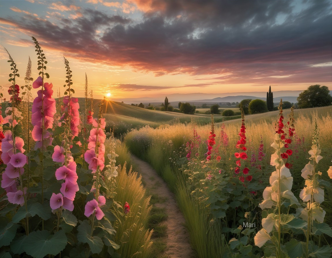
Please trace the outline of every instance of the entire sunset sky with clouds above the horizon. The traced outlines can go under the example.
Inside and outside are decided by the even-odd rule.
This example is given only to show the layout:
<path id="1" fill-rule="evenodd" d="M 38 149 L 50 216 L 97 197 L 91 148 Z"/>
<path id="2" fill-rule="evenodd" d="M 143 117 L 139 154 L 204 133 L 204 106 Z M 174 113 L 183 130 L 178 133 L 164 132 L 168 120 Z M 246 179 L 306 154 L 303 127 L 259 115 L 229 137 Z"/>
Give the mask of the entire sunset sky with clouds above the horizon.
<path id="1" fill-rule="evenodd" d="M 179 93 L 332 90 L 332 2 L 0 1 L 0 85 L 10 86 L 9 51 L 25 85 L 37 79 L 37 38 L 54 92 L 64 92 L 65 57 L 75 97 L 85 73 L 94 98 Z M 8 94 L 7 94 L 8 96 Z"/>

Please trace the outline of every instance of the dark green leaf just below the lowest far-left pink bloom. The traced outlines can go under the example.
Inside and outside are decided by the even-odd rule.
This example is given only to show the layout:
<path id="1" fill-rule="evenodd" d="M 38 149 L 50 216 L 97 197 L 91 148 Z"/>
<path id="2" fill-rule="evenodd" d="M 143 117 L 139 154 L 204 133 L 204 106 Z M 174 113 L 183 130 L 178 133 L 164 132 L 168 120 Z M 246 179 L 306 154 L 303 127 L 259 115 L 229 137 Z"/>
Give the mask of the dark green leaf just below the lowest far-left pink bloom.
<path id="1" fill-rule="evenodd" d="M 18 223 L 26 216 L 34 217 L 35 215 L 38 215 L 44 220 L 48 220 L 51 217 L 49 203 L 47 204 L 47 202 L 45 202 L 43 205 L 41 205 L 41 203 L 28 204 L 28 212 L 25 210 L 25 206 L 22 206 L 13 216 L 12 222 Z"/>

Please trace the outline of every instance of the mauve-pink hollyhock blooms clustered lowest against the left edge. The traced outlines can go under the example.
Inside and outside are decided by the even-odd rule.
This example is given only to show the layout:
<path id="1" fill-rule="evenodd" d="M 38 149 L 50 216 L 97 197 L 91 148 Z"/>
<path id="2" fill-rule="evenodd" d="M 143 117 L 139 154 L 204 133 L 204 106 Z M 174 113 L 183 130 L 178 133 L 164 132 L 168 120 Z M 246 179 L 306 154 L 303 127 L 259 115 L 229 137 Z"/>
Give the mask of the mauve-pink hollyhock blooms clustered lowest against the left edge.
<path id="1" fill-rule="evenodd" d="M 18 180 L 21 180 L 24 173 L 23 166 L 27 163 L 27 156 L 23 154 L 25 152 L 23 149 L 24 141 L 20 137 L 13 139 L 10 130 L 6 130 L 3 136 L 1 159 L 7 167 L 2 173 L 1 187 L 7 192 L 9 202 L 22 206 L 27 188 L 23 188 L 22 184 L 20 185 L 21 189 L 18 189 L 17 186 L 19 185 Z"/>

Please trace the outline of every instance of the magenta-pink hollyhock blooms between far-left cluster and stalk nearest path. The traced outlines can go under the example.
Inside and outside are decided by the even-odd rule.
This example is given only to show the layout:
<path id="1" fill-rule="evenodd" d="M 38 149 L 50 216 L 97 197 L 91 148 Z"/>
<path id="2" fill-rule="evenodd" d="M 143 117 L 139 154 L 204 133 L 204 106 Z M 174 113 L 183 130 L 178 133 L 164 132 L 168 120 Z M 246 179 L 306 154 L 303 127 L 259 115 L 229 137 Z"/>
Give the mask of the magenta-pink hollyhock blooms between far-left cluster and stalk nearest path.
<path id="1" fill-rule="evenodd" d="M 77 184 L 76 162 L 71 155 L 70 146 L 67 144 L 67 151 L 63 147 L 56 145 L 52 159 L 60 162 L 62 166 L 55 170 L 57 180 L 64 180 L 61 184 L 60 193 L 52 194 L 50 199 L 50 207 L 56 210 L 62 207 L 65 210 L 73 211 L 76 192 L 79 190 Z"/>

